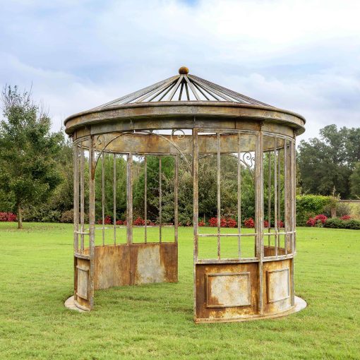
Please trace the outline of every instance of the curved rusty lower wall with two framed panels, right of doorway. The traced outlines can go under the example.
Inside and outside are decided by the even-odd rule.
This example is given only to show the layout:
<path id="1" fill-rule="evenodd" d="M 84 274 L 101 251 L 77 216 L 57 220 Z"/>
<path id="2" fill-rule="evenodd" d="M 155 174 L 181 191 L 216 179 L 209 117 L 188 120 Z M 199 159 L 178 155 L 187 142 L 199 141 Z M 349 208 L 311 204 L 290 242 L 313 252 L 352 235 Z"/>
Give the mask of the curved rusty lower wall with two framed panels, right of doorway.
<path id="1" fill-rule="evenodd" d="M 259 263 L 197 264 L 196 321 L 267 316 L 292 307 L 292 261 L 263 263 L 263 313 L 258 299 Z"/>

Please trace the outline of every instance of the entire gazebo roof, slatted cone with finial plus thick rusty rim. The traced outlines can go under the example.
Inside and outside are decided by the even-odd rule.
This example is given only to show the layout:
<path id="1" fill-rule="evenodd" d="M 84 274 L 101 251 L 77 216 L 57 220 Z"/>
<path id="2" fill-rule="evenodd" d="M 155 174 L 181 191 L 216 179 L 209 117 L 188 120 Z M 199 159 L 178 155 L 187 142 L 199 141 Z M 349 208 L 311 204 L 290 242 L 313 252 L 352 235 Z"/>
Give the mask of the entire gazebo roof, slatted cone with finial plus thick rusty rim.
<path id="1" fill-rule="evenodd" d="M 292 129 L 290 134 L 292 131 L 299 134 L 304 132 L 305 119 L 192 75 L 182 66 L 179 75 L 68 116 L 64 124 L 68 134 L 81 128 L 85 134 L 89 131 L 101 133 L 196 126 L 255 129 L 260 124 L 267 124 L 264 131 L 275 131 L 274 126 L 287 126 Z"/>

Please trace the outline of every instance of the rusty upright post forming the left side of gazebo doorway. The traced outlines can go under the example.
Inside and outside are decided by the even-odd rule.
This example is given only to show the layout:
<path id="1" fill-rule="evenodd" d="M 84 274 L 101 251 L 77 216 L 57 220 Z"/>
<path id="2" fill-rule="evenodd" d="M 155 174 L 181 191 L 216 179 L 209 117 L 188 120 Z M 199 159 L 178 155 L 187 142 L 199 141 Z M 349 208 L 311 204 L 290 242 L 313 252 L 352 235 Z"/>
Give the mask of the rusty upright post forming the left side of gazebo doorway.
<path id="1" fill-rule="evenodd" d="M 89 138 L 89 253 L 90 253 L 90 308 L 94 307 L 95 270 L 95 157 L 92 136 Z"/>

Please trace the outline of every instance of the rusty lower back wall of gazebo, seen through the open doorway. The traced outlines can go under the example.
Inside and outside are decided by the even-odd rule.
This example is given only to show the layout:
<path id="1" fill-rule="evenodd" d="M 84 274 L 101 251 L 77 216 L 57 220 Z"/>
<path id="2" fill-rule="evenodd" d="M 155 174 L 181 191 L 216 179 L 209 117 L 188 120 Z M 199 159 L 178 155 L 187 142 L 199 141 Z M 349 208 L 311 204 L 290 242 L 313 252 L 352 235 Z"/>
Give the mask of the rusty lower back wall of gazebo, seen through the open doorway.
<path id="1" fill-rule="evenodd" d="M 177 282 L 177 244 L 95 246 L 95 289 Z"/>

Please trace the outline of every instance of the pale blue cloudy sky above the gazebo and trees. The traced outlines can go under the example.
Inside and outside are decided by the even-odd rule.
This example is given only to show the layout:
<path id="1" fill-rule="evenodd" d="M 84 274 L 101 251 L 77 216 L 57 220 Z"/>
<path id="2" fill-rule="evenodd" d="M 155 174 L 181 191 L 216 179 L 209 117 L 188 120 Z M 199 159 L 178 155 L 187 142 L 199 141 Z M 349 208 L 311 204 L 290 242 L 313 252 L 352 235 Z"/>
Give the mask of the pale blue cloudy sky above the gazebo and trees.
<path id="1" fill-rule="evenodd" d="M 190 73 L 307 119 L 360 126 L 360 1 L 0 0 L 0 85 L 66 116 Z"/>

